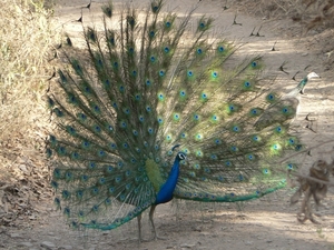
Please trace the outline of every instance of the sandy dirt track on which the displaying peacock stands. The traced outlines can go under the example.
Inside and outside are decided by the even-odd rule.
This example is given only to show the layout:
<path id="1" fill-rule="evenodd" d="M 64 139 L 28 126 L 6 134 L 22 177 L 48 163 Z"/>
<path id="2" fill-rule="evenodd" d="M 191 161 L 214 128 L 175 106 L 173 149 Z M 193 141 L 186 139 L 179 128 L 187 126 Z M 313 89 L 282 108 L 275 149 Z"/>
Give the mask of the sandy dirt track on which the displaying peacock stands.
<path id="1" fill-rule="evenodd" d="M 116 8 L 120 0 L 114 1 Z M 134 0 L 132 4 L 145 7 L 144 1 Z M 146 1 L 145 1 L 146 2 Z M 237 1 L 236 1 L 237 2 Z M 58 0 L 55 22 L 59 29 L 71 37 L 80 38 L 81 23 L 76 22 L 81 14 L 81 8 L 89 2 L 84 0 Z M 166 1 L 166 9 L 184 13 L 195 4 L 194 0 Z M 325 40 L 316 32 L 301 37 L 302 28 L 288 19 L 267 19 L 253 17 L 252 13 L 238 11 L 237 6 L 224 10 L 225 1 L 202 0 L 194 17 L 202 14 L 215 18 L 215 33 L 223 34 L 236 43 L 243 43 L 240 57 L 262 54 L 266 62 L 268 74 L 277 76 L 275 84 L 282 91 L 288 91 L 307 72 L 315 71 L 322 78 L 307 84 L 302 97 L 301 109 L 294 123 L 302 133 L 302 139 L 308 148 L 318 146 L 333 138 L 334 134 L 334 83 L 331 68 L 326 67 L 331 54 L 325 51 L 333 38 Z M 84 22 L 89 23 L 89 14 L 99 19 L 100 4 L 91 3 L 90 11 L 82 9 Z M 235 21 L 242 24 L 232 24 Z M 259 36 L 250 36 L 252 30 Z M 258 29 L 261 30 L 258 31 Z M 275 43 L 275 50 L 272 48 Z M 334 57 L 334 56 L 333 56 Z M 279 70 L 284 63 L 284 70 Z M 304 70 L 307 67 L 306 70 Z M 313 119 L 305 120 L 306 114 Z M 306 128 L 308 127 L 308 128 Z M 302 172 L 317 159 L 332 160 L 333 144 L 324 143 L 311 150 L 310 156 L 302 160 Z M 42 187 L 40 188 L 42 189 Z M 1 194 L 0 189 L 0 194 Z M 252 250 L 334 250 L 334 189 L 330 188 L 327 197 L 315 212 L 318 224 L 306 221 L 299 223 L 296 213 L 301 203 L 289 206 L 294 193 L 284 189 L 262 199 L 243 203 L 196 203 L 174 201 L 158 206 L 155 223 L 160 237 L 166 239 L 138 243 L 137 221 L 112 231 L 88 231 L 79 233 L 67 227 L 60 212 L 55 211 L 50 192 L 42 193 L 35 200 L 35 212 L 19 217 L 13 224 L 0 226 L 0 249 L 252 249 Z M 1 203 L 1 200 L 0 200 Z M 144 237 L 153 237 L 148 224 L 148 216 L 143 218 Z M 87 234 L 87 236 L 86 236 Z"/>

